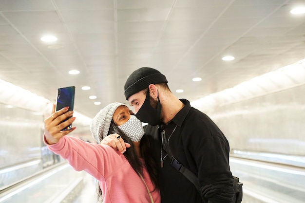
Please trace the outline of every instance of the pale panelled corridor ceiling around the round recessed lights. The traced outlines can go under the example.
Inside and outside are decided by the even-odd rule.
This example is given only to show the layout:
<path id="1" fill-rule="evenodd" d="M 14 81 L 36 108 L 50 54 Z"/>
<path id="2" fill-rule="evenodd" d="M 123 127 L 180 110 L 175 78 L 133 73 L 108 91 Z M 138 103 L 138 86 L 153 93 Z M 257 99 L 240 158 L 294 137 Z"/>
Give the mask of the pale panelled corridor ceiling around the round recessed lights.
<path id="1" fill-rule="evenodd" d="M 152 67 L 194 101 L 305 58 L 297 5 L 305 0 L 0 0 L 0 78 L 52 102 L 76 86 L 75 111 L 93 117 L 127 103 L 128 75 Z"/>

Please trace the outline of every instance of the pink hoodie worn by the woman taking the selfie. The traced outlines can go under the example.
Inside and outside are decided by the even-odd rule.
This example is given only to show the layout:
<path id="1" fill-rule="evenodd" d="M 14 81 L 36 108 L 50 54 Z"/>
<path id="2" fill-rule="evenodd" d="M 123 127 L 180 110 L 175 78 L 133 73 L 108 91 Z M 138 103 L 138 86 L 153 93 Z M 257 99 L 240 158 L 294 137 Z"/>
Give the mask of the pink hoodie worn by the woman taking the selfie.
<path id="1" fill-rule="evenodd" d="M 75 170 L 95 177 L 103 193 L 103 203 L 151 203 L 147 188 L 124 155 L 107 146 L 84 142 L 72 136 L 62 137 L 48 148 L 68 160 Z M 161 203 L 159 190 L 153 190 L 147 170 L 143 176 L 154 203 Z"/>

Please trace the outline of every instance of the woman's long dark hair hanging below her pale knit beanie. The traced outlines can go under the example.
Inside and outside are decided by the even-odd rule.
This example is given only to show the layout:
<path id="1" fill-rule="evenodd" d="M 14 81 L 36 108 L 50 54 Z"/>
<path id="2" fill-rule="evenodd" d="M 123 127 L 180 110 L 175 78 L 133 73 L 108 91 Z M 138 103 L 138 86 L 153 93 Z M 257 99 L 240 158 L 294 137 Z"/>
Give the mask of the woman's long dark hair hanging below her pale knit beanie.
<path id="1" fill-rule="evenodd" d="M 126 148 L 126 151 L 124 152 L 123 155 L 129 162 L 129 164 L 133 167 L 133 170 L 138 175 L 141 174 L 143 176 L 143 168 L 146 167 L 147 172 L 151 178 L 152 184 L 154 185 L 154 190 L 158 189 L 159 184 L 158 184 L 157 166 L 151 155 L 150 142 L 149 142 L 148 136 L 146 134 L 144 134 L 141 139 L 141 142 L 140 142 L 140 150 L 141 150 L 141 154 L 144 159 L 144 165 L 145 165 L 145 166 L 143 166 L 142 162 L 139 160 L 139 158 L 135 154 L 132 140 L 129 137 L 127 137 L 127 135 L 124 132 L 122 132 L 122 130 L 117 128 L 117 125 L 112 120 L 108 134 L 114 134 L 114 133 L 121 135 L 124 142 L 129 143 L 131 145 L 130 148 Z M 97 199 L 98 199 L 98 201 L 102 202 L 102 190 L 101 190 L 98 182 L 97 182 L 96 189 L 97 189 Z"/>

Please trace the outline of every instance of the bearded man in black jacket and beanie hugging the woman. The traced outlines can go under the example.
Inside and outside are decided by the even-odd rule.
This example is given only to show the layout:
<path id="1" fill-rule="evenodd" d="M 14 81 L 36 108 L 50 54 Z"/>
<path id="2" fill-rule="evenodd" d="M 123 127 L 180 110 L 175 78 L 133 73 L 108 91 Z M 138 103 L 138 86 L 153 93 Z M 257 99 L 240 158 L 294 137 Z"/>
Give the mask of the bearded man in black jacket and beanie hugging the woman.
<path id="1" fill-rule="evenodd" d="M 232 203 L 233 177 L 229 167 L 229 143 L 216 124 L 203 112 L 178 99 L 170 91 L 166 77 L 143 67 L 127 79 L 125 97 L 135 116 L 144 123 L 153 158 L 158 164 L 162 203 Z M 165 133 L 164 133 L 165 132 Z M 102 143 L 126 149 L 117 135 Z M 196 187 L 170 163 L 162 144 L 167 141 L 174 157 L 198 177 Z"/>

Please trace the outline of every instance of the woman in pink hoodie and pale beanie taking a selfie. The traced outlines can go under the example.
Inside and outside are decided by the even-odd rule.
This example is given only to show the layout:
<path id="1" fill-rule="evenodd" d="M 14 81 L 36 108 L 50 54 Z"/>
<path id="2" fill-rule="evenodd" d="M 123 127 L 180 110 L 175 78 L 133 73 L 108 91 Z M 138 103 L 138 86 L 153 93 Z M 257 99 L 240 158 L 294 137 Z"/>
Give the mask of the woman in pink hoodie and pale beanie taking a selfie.
<path id="1" fill-rule="evenodd" d="M 77 171 L 84 170 L 98 180 L 99 201 L 161 203 L 156 166 L 147 149 L 149 141 L 141 121 L 133 112 L 117 102 L 99 111 L 90 125 L 98 144 L 65 136 L 76 129 L 60 130 L 75 121 L 72 114 L 73 111 L 68 108 L 55 112 L 53 105 L 52 115 L 44 121 L 44 142 L 51 151 L 68 160 Z M 121 154 L 114 148 L 99 144 L 109 134 L 116 136 L 117 142 L 129 143 L 131 148 Z"/>

